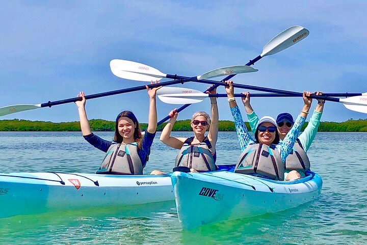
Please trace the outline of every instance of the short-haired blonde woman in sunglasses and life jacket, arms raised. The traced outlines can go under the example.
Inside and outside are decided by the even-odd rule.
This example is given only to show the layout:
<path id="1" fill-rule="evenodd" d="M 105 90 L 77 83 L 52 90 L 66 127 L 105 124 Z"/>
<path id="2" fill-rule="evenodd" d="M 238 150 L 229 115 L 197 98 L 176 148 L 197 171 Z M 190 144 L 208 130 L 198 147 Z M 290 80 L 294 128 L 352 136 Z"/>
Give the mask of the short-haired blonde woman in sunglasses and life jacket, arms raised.
<path id="1" fill-rule="evenodd" d="M 216 89 L 210 93 L 217 93 Z M 161 141 L 175 149 L 180 149 L 175 166 L 185 171 L 213 171 L 217 169 L 216 143 L 218 137 L 218 106 L 216 97 L 211 97 L 211 117 L 203 111 L 195 112 L 191 119 L 191 128 L 194 136 L 189 138 L 172 137 L 172 128 L 177 119 L 177 109 L 168 114 L 171 119 L 164 127 L 161 134 Z M 210 127 L 209 127 L 210 126 Z M 205 132 L 209 133 L 205 136 Z M 183 170 L 185 169 L 185 170 Z M 151 174 L 165 174 L 162 171 L 153 170 Z"/>

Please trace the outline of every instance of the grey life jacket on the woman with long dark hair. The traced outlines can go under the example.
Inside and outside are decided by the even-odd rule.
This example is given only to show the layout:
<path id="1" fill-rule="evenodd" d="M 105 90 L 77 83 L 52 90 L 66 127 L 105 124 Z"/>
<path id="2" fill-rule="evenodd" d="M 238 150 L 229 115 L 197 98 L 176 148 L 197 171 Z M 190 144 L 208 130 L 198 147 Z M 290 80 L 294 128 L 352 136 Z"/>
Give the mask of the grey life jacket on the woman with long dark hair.
<path id="1" fill-rule="evenodd" d="M 138 143 L 112 144 L 96 174 L 142 175 L 143 164 L 138 155 Z"/>

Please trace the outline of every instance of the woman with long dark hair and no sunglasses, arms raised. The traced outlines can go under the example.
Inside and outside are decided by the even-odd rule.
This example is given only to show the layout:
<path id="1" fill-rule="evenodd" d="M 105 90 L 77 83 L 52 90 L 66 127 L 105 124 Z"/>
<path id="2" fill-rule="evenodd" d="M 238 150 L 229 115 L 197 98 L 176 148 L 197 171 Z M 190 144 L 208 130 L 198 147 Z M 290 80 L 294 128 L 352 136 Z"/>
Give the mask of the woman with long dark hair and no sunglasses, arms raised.
<path id="1" fill-rule="evenodd" d="M 116 118 L 113 141 L 104 140 L 91 132 L 85 109 L 85 94 L 84 92 L 80 92 L 78 96 L 83 99 L 82 101 L 75 102 L 75 104 L 78 107 L 82 134 L 95 148 L 107 153 L 97 174 L 143 174 L 143 168 L 148 160 L 150 147 L 157 127 L 155 95 L 156 90 L 159 88 L 149 89 L 147 86 L 149 116 L 148 127 L 144 136 L 134 113 L 131 111 L 122 111 Z"/>

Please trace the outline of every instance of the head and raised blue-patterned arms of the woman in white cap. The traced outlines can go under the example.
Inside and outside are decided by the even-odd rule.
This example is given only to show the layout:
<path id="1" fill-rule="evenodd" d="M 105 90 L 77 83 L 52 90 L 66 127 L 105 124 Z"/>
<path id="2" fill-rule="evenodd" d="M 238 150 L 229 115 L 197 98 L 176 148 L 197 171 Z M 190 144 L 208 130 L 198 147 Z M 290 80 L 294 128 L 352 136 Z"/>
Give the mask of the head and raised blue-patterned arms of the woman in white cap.
<path id="1" fill-rule="evenodd" d="M 273 143 L 275 143 L 276 144 L 275 149 L 279 153 L 281 161 L 284 164 L 285 159 L 292 152 L 294 143 L 296 142 L 298 138 L 298 134 L 306 120 L 308 111 L 312 103 L 312 99 L 309 98 L 308 96 L 310 96 L 312 93 L 303 92 L 304 105 L 301 110 L 301 113 L 297 117 L 292 129 L 285 136 L 285 138 L 278 144 L 278 142 L 274 142 L 274 140 L 277 137 L 279 137 L 279 135 L 276 130 L 277 125 L 276 125 L 275 119 L 272 117 L 267 116 L 267 117 L 261 118 L 259 120 L 259 124 L 256 127 L 255 139 L 251 137 L 251 135 L 249 134 L 249 132 L 246 129 L 245 123 L 242 119 L 240 109 L 233 95 L 234 94 L 234 88 L 232 85 L 233 82 L 225 81 L 225 83 L 227 84 L 225 89 L 227 92 L 229 107 L 230 107 L 231 114 L 234 119 L 235 128 L 236 128 L 237 135 L 239 138 L 241 152 L 244 152 L 245 149 L 247 149 L 248 146 L 251 144 L 272 145 Z M 281 173 L 283 173 L 283 170 L 281 171 Z M 252 175 L 265 177 L 265 176 L 261 176 L 260 174 L 252 174 Z M 279 177 L 279 180 L 282 180 L 282 179 L 284 179 L 284 176 Z"/>

